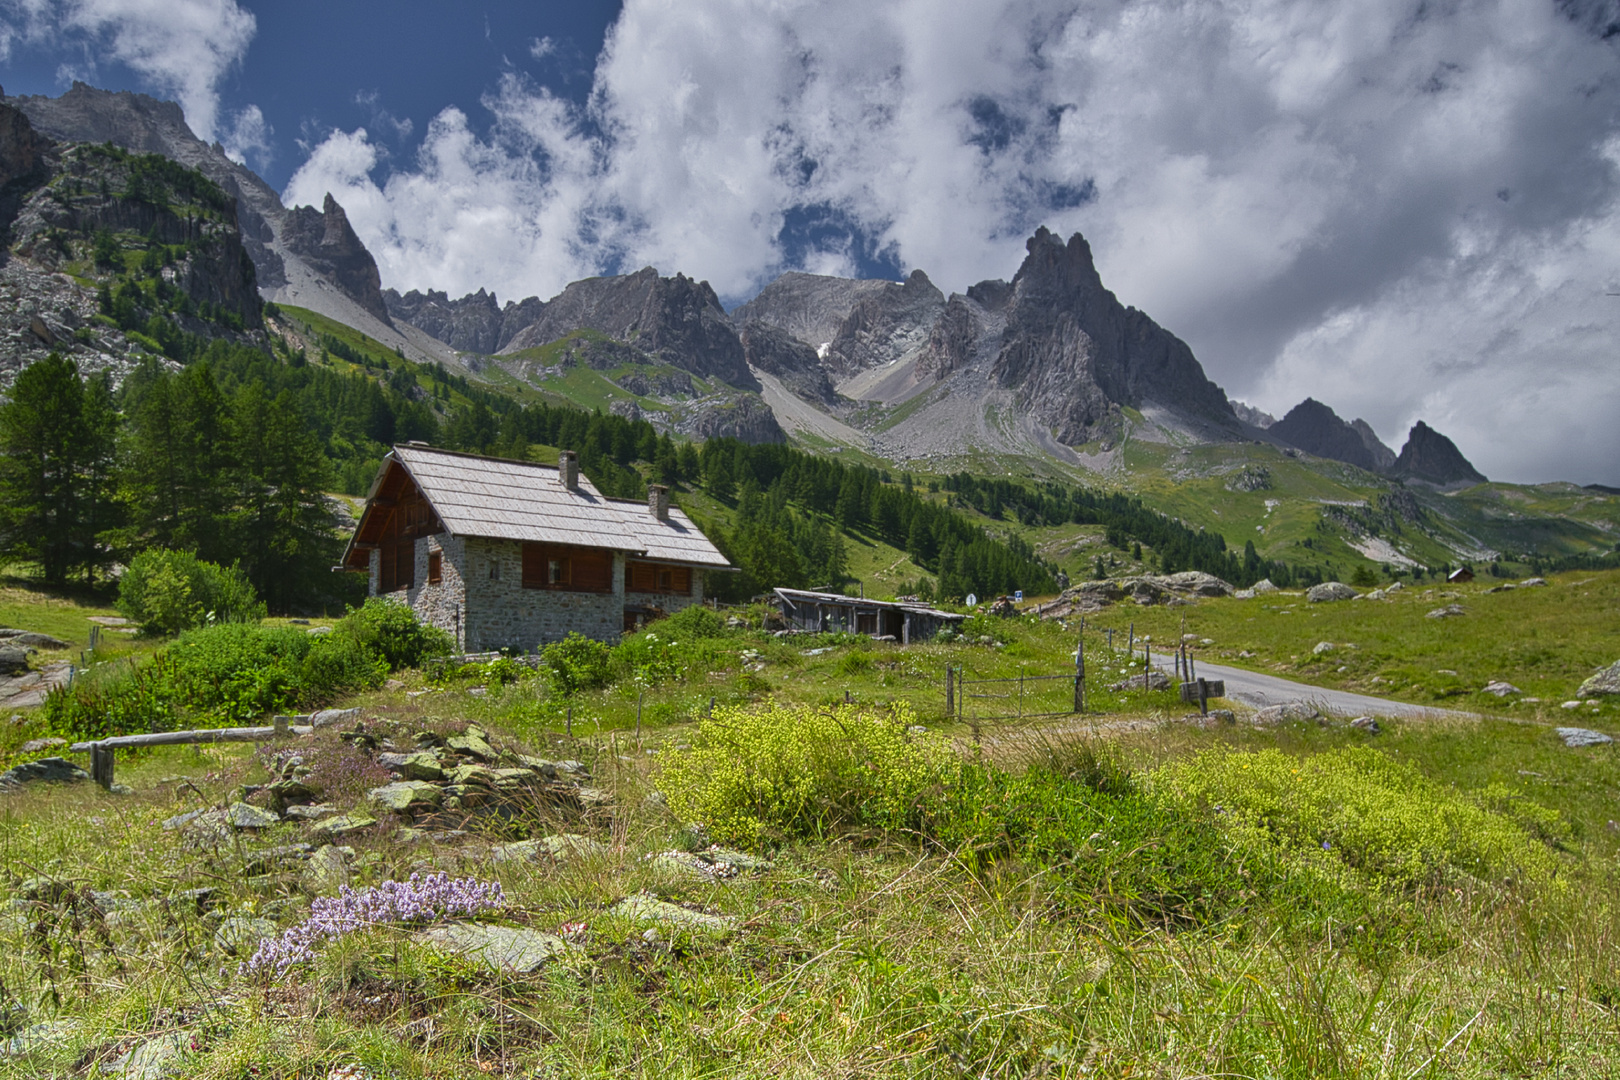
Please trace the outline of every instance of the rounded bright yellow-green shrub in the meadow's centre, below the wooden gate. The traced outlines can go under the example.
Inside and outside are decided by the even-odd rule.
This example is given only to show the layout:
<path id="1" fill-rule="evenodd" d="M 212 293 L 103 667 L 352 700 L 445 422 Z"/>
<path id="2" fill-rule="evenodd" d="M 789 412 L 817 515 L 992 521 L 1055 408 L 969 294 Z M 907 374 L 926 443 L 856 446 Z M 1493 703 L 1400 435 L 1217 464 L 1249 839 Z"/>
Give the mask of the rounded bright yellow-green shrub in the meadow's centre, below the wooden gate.
<path id="1" fill-rule="evenodd" d="M 723 708 L 688 750 L 671 751 L 658 785 L 684 821 L 758 845 L 833 827 L 915 829 L 938 808 L 961 761 L 941 735 L 912 729 L 910 708 Z"/>

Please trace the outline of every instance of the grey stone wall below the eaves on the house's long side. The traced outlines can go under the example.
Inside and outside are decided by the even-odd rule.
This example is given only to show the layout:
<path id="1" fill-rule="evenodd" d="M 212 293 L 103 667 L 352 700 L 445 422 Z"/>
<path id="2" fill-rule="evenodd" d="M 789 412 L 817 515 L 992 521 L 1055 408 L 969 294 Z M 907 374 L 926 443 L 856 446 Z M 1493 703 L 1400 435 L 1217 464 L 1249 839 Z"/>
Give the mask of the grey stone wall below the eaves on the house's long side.
<path id="1" fill-rule="evenodd" d="M 624 630 L 622 554 L 612 559 L 612 593 L 525 589 L 523 546 L 517 541 L 468 538 L 462 565 L 470 653 L 528 651 L 570 631 L 612 643 Z"/>

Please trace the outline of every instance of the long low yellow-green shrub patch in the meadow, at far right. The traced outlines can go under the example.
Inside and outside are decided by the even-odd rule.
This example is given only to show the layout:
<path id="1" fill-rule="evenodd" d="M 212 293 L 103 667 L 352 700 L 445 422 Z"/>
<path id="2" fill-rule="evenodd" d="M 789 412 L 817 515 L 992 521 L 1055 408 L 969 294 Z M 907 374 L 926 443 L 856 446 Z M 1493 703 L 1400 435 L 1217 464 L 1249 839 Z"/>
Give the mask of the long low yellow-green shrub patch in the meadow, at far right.
<path id="1" fill-rule="evenodd" d="M 1309 758 L 1210 750 L 1166 766 L 1155 787 L 1189 813 L 1218 808 L 1213 819 L 1244 847 L 1281 848 L 1395 889 L 1458 874 L 1545 884 L 1557 870 L 1536 839 L 1557 832 L 1555 814 L 1498 813 L 1498 790 L 1469 798 L 1367 748 Z"/>

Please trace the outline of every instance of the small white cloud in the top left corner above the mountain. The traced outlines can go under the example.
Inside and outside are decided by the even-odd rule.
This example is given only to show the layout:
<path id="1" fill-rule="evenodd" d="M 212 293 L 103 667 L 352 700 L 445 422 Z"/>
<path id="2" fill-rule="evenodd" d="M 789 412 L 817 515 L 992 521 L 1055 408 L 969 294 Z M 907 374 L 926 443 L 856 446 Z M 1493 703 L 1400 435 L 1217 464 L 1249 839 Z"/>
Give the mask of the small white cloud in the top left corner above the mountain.
<path id="1" fill-rule="evenodd" d="M 253 40 L 235 0 L 0 0 L 29 42 L 83 47 L 91 62 L 128 66 L 180 102 L 202 139 L 220 134 L 219 81 Z M 240 117 L 233 120 L 240 123 Z"/>

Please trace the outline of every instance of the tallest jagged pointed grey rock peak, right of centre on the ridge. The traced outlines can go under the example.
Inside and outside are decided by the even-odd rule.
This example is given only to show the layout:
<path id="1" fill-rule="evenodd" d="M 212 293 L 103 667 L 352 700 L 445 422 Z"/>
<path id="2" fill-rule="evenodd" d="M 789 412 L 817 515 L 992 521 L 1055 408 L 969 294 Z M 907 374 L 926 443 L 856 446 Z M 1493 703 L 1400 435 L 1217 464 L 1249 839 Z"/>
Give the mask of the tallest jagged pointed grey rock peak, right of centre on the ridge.
<path id="1" fill-rule="evenodd" d="M 993 374 L 1061 442 L 1108 434 L 1119 406 L 1150 402 L 1236 426 L 1192 350 L 1103 288 L 1084 236 L 1064 244 L 1040 228 L 1027 251 Z"/>

